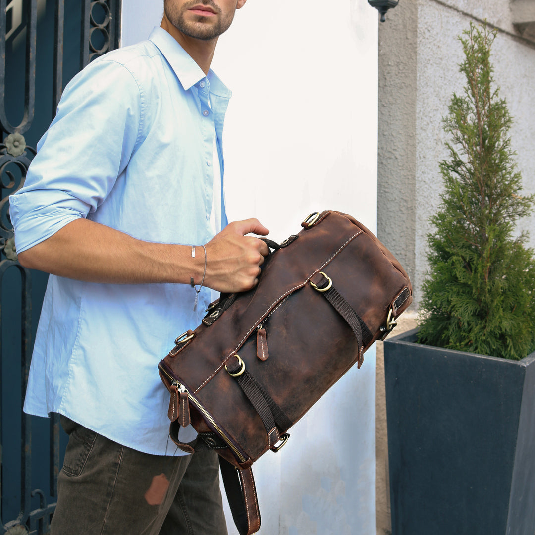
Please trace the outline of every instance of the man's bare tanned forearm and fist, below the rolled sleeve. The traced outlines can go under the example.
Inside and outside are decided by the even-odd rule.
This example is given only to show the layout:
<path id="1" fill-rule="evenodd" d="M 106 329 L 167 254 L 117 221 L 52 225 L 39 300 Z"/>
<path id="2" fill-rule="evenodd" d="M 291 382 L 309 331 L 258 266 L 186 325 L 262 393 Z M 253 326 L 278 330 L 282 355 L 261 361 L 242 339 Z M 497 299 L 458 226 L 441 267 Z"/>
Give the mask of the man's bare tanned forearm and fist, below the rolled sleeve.
<path id="1" fill-rule="evenodd" d="M 243 291 L 257 282 L 259 265 L 268 254 L 265 244 L 244 236 L 267 233 L 256 220 L 232 223 L 206 244 L 204 285 L 222 292 Z M 113 284 L 174 282 L 200 284 L 204 273 L 203 249 L 195 258 L 186 245 L 137 240 L 123 232 L 77 219 L 47 240 L 19 254 L 26 268 L 71 279 Z"/>

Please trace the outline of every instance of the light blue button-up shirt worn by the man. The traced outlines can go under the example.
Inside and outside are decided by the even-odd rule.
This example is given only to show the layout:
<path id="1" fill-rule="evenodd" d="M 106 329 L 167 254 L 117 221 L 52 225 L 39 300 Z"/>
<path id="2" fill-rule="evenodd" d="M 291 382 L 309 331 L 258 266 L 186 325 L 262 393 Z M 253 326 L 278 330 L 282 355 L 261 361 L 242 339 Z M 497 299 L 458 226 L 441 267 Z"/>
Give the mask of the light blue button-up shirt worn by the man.
<path id="1" fill-rule="evenodd" d="M 81 217 L 146 241 L 208 242 L 230 96 L 162 28 L 95 60 L 65 88 L 25 185 L 10 198 L 17 251 Z M 168 440 L 170 396 L 157 364 L 201 322 L 210 298 L 203 288 L 194 312 L 189 285 L 50 276 L 24 410 L 59 412 L 142 452 L 181 454 Z"/>

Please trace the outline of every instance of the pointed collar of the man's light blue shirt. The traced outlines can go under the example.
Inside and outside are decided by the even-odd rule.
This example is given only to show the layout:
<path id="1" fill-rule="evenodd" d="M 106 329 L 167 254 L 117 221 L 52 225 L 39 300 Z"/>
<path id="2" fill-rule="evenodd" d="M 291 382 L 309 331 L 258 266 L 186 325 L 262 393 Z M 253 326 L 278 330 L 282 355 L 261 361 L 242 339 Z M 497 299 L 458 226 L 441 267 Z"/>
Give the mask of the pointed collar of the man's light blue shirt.
<path id="1" fill-rule="evenodd" d="M 221 97 L 230 98 L 232 93 L 225 84 L 218 78 L 215 72 L 208 71 L 205 77 L 201 67 L 195 60 L 180 46 L 174 37 L 163 28 L 156 26 L 149 35 L 152 41 L 162 52 L 174 73 L 177 75 L 182 87 L 187 91 L 204 78 L 210 82 L 210 93 Z"/>

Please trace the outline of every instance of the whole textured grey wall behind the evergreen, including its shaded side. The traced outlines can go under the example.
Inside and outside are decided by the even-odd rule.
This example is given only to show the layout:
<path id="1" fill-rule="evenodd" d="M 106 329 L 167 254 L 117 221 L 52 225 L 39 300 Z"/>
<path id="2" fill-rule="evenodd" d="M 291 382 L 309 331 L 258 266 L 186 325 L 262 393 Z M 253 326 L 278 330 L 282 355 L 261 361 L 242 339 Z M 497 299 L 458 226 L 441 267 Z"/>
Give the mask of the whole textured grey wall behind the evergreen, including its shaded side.
<path id="1" fill-rule="evenodd" d="M 514 0 L 524 2 L 524 0 Z M 412 322 L 427 269 L 429 217 L 442 189 L 439 162 L 447 157 L 442 117 L 453 91 L 462 92 L 458 72 L 462 47 L 457 36 L 470 21 L 498 28 L 492 63 L 500 95 L 514 118 L 510 136 L 524 191 L 535 192 L 535 43 L 514 26 L 509 0 L 406 0 L 379 25 L 378 236 L 406 266 L 415 302 L 404 316 Z M 532 2 L 535 4 L 535 2 Z M 518 7 L 519 4 L 516 4 Z M 535 215 L 518 231 L 530 232 Z M 377 352 L 377 533 L 390 532 L 383 357 Z"/>

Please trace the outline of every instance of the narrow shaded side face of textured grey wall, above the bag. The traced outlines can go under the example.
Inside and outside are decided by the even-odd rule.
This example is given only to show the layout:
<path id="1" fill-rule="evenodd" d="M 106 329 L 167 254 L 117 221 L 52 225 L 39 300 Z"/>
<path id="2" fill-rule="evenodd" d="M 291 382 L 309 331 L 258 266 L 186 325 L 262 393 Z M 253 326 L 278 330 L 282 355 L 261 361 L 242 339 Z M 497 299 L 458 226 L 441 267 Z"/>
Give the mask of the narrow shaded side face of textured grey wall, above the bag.
<path id="1" fill-rule="evenodd" d="M 379 26 L 377 232 L 414 278 L 418 5 L 402 8 Z"/>

